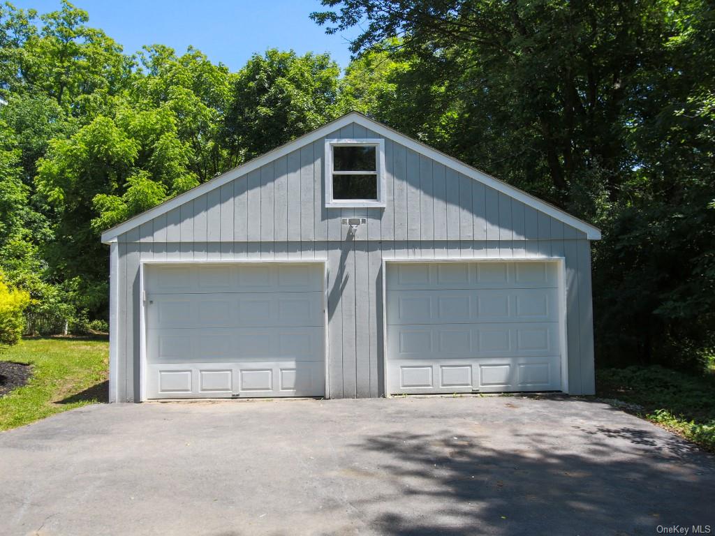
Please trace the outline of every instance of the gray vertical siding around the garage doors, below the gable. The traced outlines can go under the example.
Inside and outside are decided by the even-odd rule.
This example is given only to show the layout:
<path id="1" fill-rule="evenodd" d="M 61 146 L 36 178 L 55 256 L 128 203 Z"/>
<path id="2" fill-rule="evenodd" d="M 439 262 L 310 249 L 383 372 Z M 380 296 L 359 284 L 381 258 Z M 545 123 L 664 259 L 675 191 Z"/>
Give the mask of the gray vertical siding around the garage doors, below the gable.
<path id="1" fill-rule="evenodd" d="M 571 394 L 593 394 L 591 250 L 586 239 L 539 241 L 530 257 L 566 257 L 568 383 Z M 139 379 L 140 260 L 287 260 L 327 262 L 328 374 L 330 397 L 377 397 L 383 393 L 383 259 L 395 257 L 525 257 L 527 241 L 430 242 L 167 242 L 119 244 L 119 400 L 132 401 Z M 445 252 L 447 254 L 445 254 Z M 123 298 L 123 299 L 122 299 Z M 123 332 L 123 333 L 122 333 Z"/>

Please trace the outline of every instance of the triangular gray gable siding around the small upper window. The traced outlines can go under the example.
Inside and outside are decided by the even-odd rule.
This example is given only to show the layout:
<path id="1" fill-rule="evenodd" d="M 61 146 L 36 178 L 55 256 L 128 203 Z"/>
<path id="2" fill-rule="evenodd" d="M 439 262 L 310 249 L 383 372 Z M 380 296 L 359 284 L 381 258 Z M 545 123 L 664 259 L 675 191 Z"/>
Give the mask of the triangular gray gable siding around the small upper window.
<path id="1" fill-rule="evenodd" d="M 351 125 L 327 137 L 380 136 Z M 340 219 L 352 216 L 369 219 L 368 226 L 358 229 L 358 241 L 586 238 L 578 229 L 390 139 L 385 140 L 387 207 L 327 209 L 324 151 L 318 140 L 203 194 L 144 224 L 142 242 L 345 240 Z M 122 234 L 119 242 L 132 242 L 130 234 Z"/>

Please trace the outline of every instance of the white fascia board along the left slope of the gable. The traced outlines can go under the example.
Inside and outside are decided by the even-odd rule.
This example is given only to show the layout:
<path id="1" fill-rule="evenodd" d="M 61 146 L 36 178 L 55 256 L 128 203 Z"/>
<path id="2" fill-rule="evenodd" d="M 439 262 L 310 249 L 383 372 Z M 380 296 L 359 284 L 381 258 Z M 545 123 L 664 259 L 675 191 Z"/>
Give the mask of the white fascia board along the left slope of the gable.
<path id="1" fill-rule="evenodd" d="M 357 121 L 357 119 L 362 117 L 363 116 L 358 114 L 357 112 L 350 112 L 350 114 L 335 119 L 335 121 L 331 121 L 330 123 L 321 126 L 317 130 L 309 132 L 308 134 L 305 134 L 300 138 L 294 139 L 292 142 L 288 142 L 285 145 L 282 145 L 280 147 L 277 147 L 276 149 L 273 149 L 272 151 L 262 154 L 260 157 L 256 157 L 255 159 L 252 159 L 249 162 L 240 165 L 239 167 L 230 169 L 229 171 L 220 174 L 218 177 L 204 182 L 203 184 L 199 184 L 199 186 L 190 189 L 188 192 L 179 194 L 177 195 L 177 197 L 172 197 L 172 199 L 169 199 L 162 204 L 157 204 L 156 207 L 142 212 L 141 214 L 137 214 L 136 216 L 127 219 L 126 222 L 116 225 L 111 229 L 107 229 L 107 231 L 102 233 L 102 242 L 104 242 L 104 244 L 109 244 L 109 242 L 112 242 L 113 239 L 117 239 L 120 234 L 124 234 L 127 231 L 131 231 L 132 229 L 139 227 L 139 225 L 149 222 L 149 220 L 152 220 L 157 216 L 161 216 L 162 214 L 165 214 L 166 212 L 169 212 L 176 207 L 180 207 L 182 204 L 192 201 L 193 199 L 196 199 L 197 197 L 207 192 L 210 192 L 213 189 L 220 188 L 224 184 L 227 184 L 232 180 L 237 179 L 238 177 L 242 177 L 243 175 L 248 174 L 255 169 L 259 169 L 260 167 L 265 166 L 265 164 L 269 164 L 275 159 L 285 157 L 286 154 L 289 154 L 296 149 L 300 149 L 300 147 L 303 147 L 304 145 L 315 142 L 318 139 L 324 138 L 325 136 L 327 136 L 327 134 L 330 134 L 338 129 L 342 129 L 343 126 L 347 126 L 348 124 L 352 123 L 353 121 Z"/>

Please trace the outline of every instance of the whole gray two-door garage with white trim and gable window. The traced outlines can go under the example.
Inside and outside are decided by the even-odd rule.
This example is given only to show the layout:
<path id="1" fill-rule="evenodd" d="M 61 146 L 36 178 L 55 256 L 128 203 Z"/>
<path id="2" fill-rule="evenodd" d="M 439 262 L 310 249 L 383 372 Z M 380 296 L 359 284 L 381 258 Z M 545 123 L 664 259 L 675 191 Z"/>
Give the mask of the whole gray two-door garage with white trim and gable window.
<path id="1" fill-rule="evenodd" d="M 599 238 L 350 113 L 102 234 L 110 399 L 591 394 Z"/>

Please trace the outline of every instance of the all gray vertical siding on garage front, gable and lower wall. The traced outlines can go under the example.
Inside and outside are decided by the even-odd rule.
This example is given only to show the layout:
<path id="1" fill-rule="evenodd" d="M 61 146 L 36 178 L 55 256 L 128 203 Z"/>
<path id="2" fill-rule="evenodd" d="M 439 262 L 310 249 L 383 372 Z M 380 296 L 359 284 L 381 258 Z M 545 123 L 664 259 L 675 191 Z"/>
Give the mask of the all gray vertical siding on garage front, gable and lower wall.
<path id="1" fill-rule="evenodd" d="M 326 138 L 380 138 L 350 124 Z M 328 271 L 330 397 L 383 393 L 383 259 L 564 257 L 568 390 L 594 391 L 586 234 L 385 138 L 387 206 L 326 208 L 323 139 L 119 235 L 117 399 L 139 397 L 144 260 L 318 259 Z M 354 236 L 341 224 L 364 217 Z"/>

